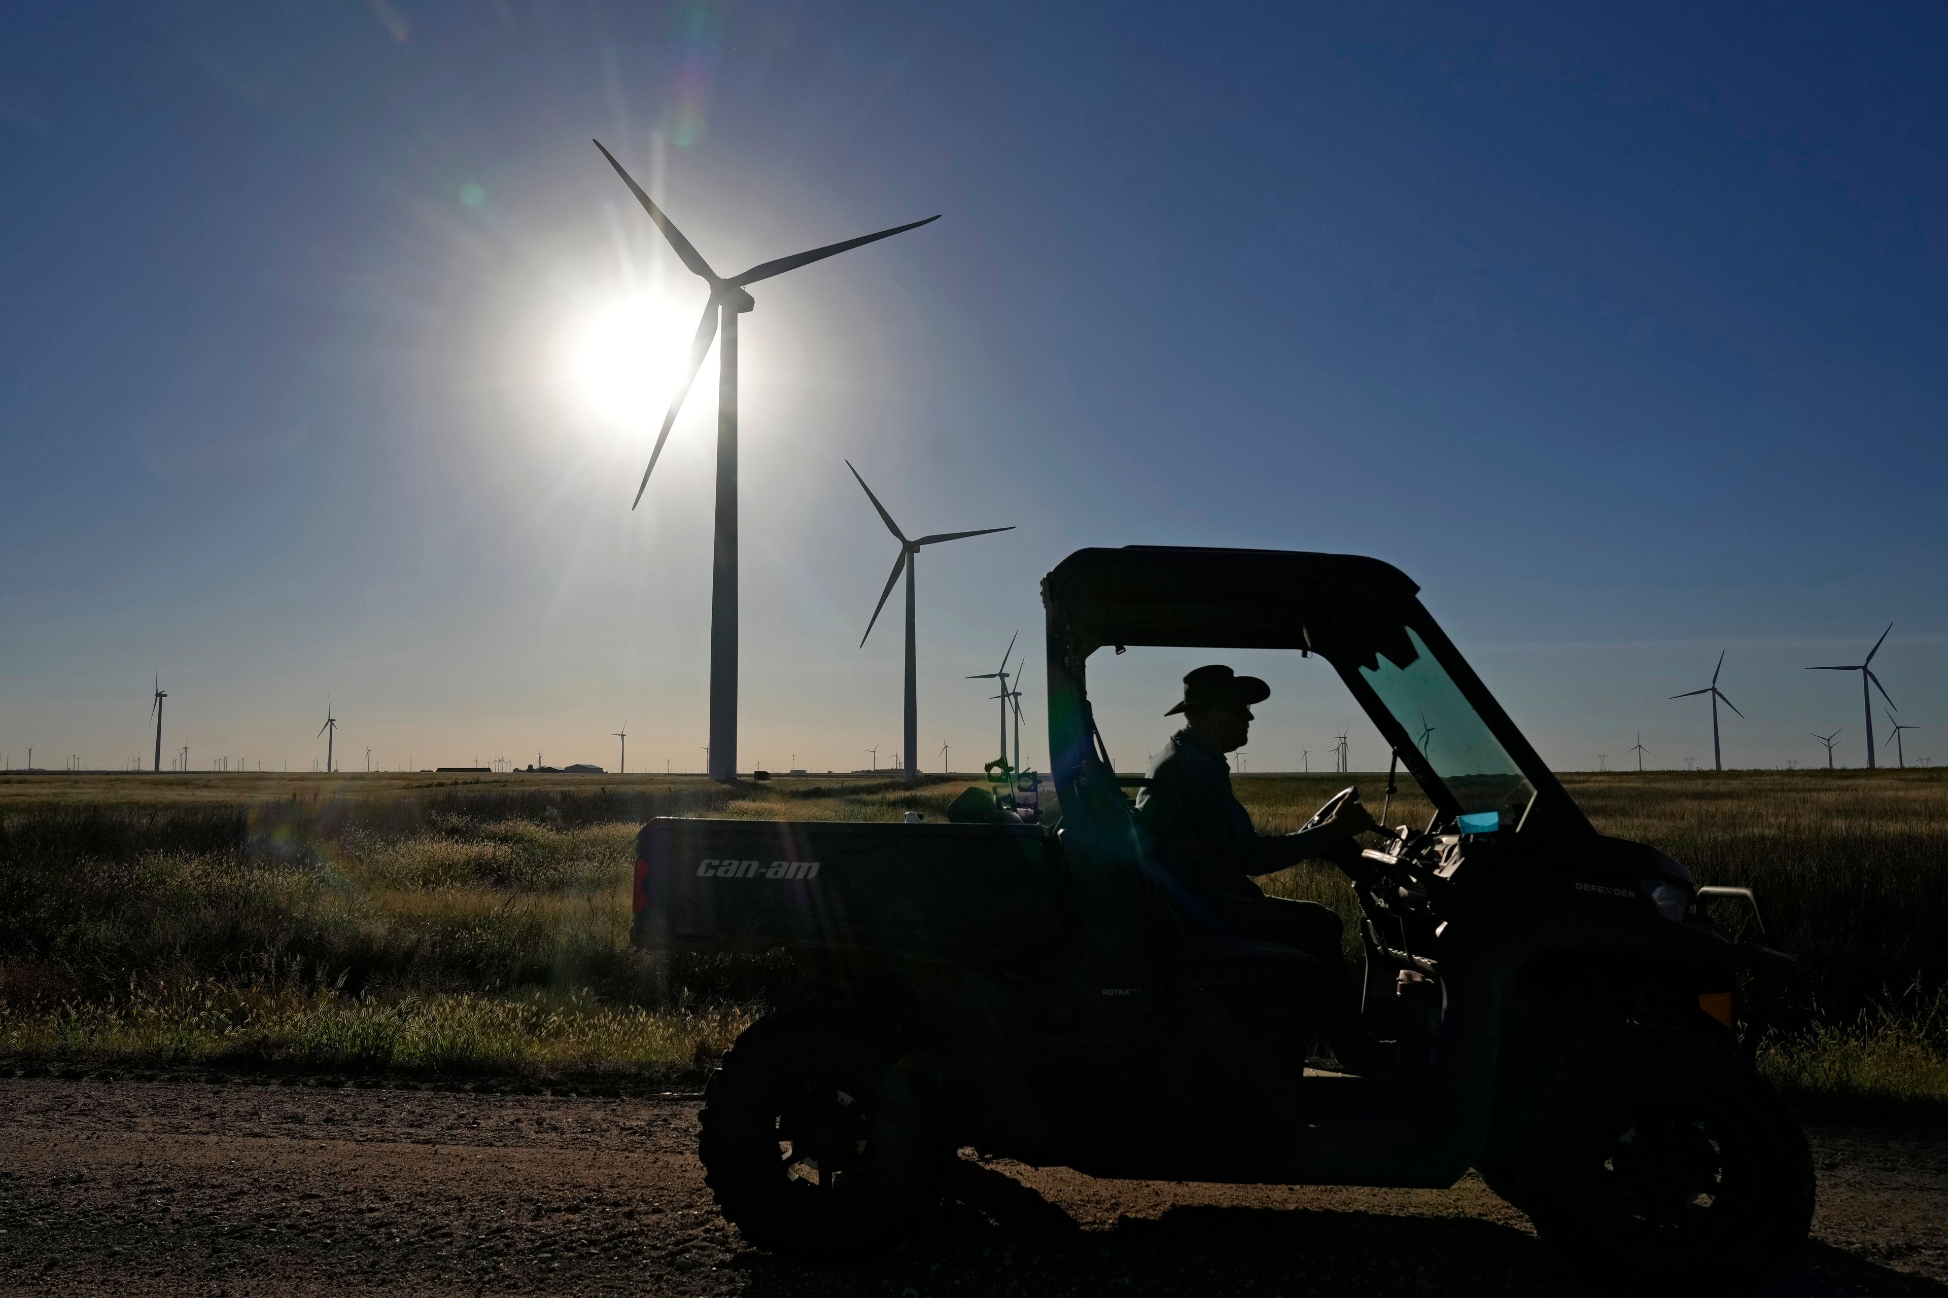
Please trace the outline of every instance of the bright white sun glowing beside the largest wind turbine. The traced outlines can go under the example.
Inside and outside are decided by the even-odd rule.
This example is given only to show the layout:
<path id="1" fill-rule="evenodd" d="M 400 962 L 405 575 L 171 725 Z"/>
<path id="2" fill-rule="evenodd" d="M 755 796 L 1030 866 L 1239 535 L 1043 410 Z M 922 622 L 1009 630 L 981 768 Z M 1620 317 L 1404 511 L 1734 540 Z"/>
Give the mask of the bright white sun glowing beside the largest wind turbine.
<path id="1" fill-rule="evenodd" d="M 567 389 L 616 434 L 662 424 L 695 321 L 676 304 L 637 294 L 579 313 L 561 350 Z"/>

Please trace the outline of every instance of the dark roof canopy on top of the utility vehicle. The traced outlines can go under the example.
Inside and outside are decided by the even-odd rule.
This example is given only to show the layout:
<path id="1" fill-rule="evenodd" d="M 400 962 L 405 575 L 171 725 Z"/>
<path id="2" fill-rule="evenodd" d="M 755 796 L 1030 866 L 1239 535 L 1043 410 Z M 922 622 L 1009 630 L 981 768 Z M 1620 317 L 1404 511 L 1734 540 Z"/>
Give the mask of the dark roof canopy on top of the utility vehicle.
<path id="1" fill-rule="evenodd" d="M 1418 592 L 1362 555 L 1177 545 L 1075 551 L 1042 582 L 1077 658 L 1105 644 L 1369 650 L 1420 611 Z"/>

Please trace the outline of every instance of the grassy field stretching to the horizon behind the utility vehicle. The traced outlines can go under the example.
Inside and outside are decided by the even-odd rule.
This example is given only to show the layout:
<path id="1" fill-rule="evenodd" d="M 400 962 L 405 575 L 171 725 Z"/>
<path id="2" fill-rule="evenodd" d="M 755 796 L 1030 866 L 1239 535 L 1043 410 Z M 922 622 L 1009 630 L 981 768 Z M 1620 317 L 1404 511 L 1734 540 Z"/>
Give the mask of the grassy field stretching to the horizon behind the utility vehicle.
<path id="1" fill-rule="evenodd" d="M 1348 776 L 1241 776 L 1262 831 Z M 1352 776 L 1371 804 L 1385 776 Z M 0 1057 L 117 1066 L 690 1076 L 762 961 L 627 946 L 647 815 L 929 819 L 968 780 L 727 790 L 697 776 L 0 776 Z M 1948 1103 L 1948 773 L 1566 776 L 1599 829 L 1759 889 L 1800 955 L 1767 1070 L 1806 1096 Z M 1412 796 L 1393 823 L 1422 821 Z M 1301 866 L 1268 891 L 1350 917 Z"/>

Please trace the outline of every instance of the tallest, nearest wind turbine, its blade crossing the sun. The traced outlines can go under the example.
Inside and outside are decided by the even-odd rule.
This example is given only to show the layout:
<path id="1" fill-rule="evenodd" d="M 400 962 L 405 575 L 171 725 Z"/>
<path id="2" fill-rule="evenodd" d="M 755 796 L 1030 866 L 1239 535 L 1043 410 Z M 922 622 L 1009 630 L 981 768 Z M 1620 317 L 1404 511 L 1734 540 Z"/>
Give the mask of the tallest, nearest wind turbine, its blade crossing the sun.
<path id="1" fill-rule="evenodd" d="M 635 500 L 629 504 L 633 510 L 643 502 L 643 490 L 649 487 L 649 475 L 656 467 L 656 457 L 662 453 L 662 442 L 670 436 L 670 426 L 676 422 L 678 411 L 684 409 L 684 397 L 690 395 L 690 385 L 697 381 L 697 370 L 703 368 L 703 356 L 711 350 L 711 339 L 717 331 L 723 331 L 723 344 L 717 348 L 717 523 L 715 523 L 715 551 L 711 557 L 711 755 L 709 755 L 709 775 L 719 782 L 736 780 L 736 317 L 744 311 L 754 309 L 758 304 L 752 296 L 744 292 L 746 286 L 758 280 L 768 280 L 773 274 L 783 274 L 787 270 L 797 270 L 799 267 L 808 267 L 814 261 L 824 261 L 847 249 L 859 247 L 861 243 L 873 243 L 875 239 L 884 239 L 916 226 L 925 226 L 927 222 L 939 220 L 939 214 L 927 220 L 908 222 L 904 226 L 894 226 L 892 230 L 880 230 L 879 234 L 865 234 L 857 239 L 845 239 L 843 243 L 828 243 L 826 247 L 814 247 L 808 253 L 797 253 L 793 257 L 779 257 L 777 261 L 764 261 L 744 270 L 725 278 L 711 270 L 711 265 L 703 261 L 703 255 L 690 245 L 690 239 L 662 214 L 643 187 L 621 169 L 616 156 L 602 148 L 602 140 L 594 142 L 608 163 L 616 167 L 616 175 L 621 177 L 635 200 L 643 204 L 649 212 L 649 220 L 656 222 L 656 230 L 662 237 L 670 241 L 676 257 L 690 267 L 690 272 L 711 286 L 711 296 L 703 304 L 703 319 L 697 321 L 697 333 L 690 341 L 690 366 L 684 372 L 684 381 L 678 385 L 676 395 L 670 397 L 670 411 L 662 416 L 662 430 L 656 434 L 656 446 L 649 451 L 649 467 L 643 469 L 643 483 L 635 488 Z"/>

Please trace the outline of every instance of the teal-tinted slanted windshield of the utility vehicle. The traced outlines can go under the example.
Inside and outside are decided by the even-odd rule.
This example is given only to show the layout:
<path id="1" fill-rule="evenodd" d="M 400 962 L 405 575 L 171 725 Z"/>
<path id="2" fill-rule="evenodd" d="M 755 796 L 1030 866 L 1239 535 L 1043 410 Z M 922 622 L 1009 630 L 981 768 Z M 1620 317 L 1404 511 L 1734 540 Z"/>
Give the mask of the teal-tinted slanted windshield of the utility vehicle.
<path id="1" fill-rule="evenodd" d="M 1465 831 L 1516 829 L 1535 798 L 1516 759 L 1494 738 L 1488 724 L 1469 704 L 1453 677 L 1434 662 L 1412 627 L 1412 662 L 1395 664 L 1385 652 L 1377 666 L 1360 667 L 1379 701 L 1414 738 L 1426 763 L 1461 806 Z M 1494 823 L 1486 817 L 1494 815 Z"/>

